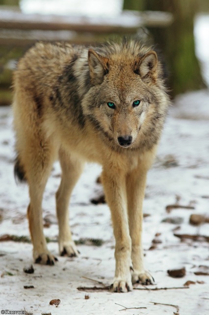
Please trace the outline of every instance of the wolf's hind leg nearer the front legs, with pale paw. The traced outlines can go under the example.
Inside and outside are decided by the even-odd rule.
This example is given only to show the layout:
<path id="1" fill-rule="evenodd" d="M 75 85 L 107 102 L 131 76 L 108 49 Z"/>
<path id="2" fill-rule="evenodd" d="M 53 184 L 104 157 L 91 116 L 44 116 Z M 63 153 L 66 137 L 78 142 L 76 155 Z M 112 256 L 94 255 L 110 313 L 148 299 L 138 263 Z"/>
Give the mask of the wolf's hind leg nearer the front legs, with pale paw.
<path id="1" fill-rule="evenodd" d="M 59 252 L 61 256 L 77 256 L 78 250 L 72 240 L 69 226 L 68 205 L 74 186 L 76 185 L 83 163 L 65 151 L 60 149 L 59 160 L 62 169 L 62 179 L 59 189 L 56 192 L 56 213 L 59 224 Z"/>

